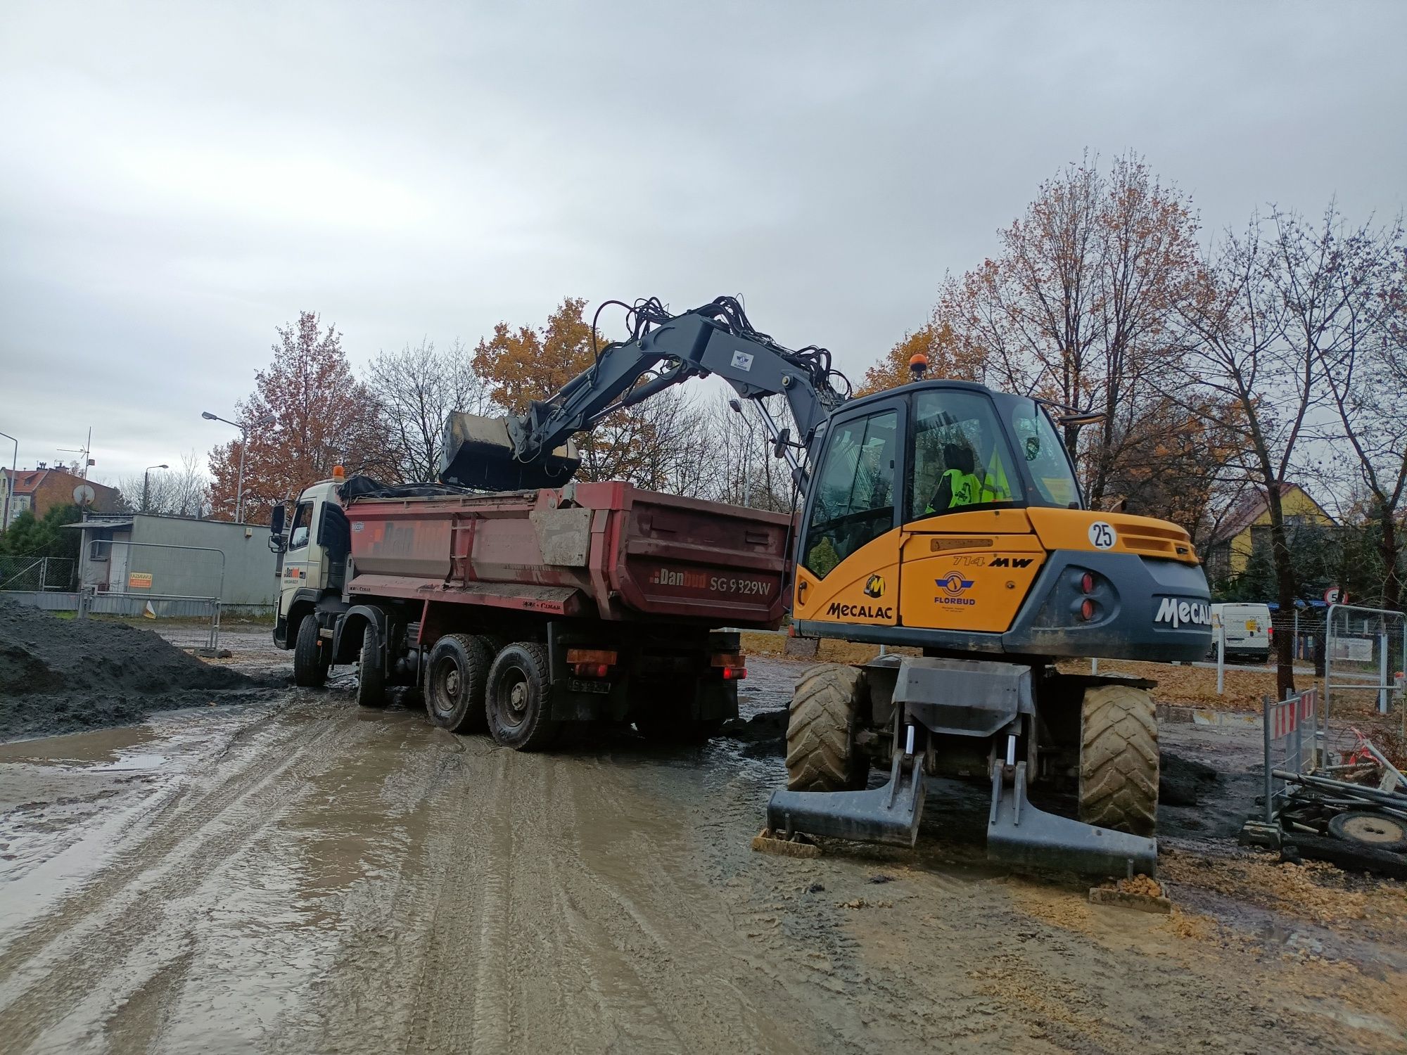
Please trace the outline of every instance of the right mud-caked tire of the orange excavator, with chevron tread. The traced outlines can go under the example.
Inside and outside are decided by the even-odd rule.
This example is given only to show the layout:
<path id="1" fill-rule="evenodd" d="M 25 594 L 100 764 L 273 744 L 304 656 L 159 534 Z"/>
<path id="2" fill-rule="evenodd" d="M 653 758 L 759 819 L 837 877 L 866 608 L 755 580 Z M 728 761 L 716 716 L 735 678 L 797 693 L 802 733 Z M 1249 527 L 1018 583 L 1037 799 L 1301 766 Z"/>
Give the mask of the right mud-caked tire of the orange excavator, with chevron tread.
<path id="1" fill-rule="evenodd" d="M 1152 836 L 1158 827 L 1158 716 L 1128 685 L 1085 691 L 1079 737 L 1079 819 Z"/>

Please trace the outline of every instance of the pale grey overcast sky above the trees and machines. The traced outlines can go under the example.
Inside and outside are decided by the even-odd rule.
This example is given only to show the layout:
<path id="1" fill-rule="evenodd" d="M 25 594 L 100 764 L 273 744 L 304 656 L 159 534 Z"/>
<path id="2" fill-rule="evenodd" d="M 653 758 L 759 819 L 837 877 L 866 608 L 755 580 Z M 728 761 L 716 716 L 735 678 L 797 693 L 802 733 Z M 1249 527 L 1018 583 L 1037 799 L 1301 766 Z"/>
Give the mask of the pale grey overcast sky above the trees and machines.
<path id="1" fill-rule="evenodd" d="M 563 295 L 743 294 L 853 376 L 1083 148 L 1204 225 L 1407 201 L 1407 3 L 0 6 L 0 430 L 113 480 Z M 0 440 L 0 461 L 10 445 Z"/>

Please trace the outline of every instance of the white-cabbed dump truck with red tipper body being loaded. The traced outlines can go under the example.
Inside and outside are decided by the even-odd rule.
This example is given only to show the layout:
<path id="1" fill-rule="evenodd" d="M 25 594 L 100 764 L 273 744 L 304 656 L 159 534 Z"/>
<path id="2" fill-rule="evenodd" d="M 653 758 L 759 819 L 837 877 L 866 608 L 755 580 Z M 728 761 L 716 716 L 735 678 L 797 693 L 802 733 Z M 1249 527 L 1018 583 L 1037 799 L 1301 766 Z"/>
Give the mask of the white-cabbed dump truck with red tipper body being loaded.
<path id="1" fill-rule="evenodd" d="M 307 488 L 284 533 L 274 640 L 294 681 L 356 664 L 357 699 L 419 685 L 454 733 L 542 748 L 567 723 L 696 740 L 737 716 L 737 630 L 784 613 L 789 518 L 567 482 L 507 494 Z"/>

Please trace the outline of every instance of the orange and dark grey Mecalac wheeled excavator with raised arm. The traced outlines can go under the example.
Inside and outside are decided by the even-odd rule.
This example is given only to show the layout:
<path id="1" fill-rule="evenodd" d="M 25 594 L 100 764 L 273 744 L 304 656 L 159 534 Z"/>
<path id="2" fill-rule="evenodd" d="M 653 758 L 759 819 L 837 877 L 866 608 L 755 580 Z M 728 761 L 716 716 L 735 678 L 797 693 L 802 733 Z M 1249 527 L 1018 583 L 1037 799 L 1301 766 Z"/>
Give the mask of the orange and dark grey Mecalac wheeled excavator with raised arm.
<path id="1" fill-rule="evenodd" d="M 1040 399 L 927 380 L 922 357 L 912 383 L 853 398 L 826 349 L 784 347 L 736 298 L 622 307 L 630 336 L 526 414 L 453 415 L 442 480 L 561 485 L 574 433 L 689 378 L 723 378 L 756 404 L 801 497 L 795 633 L 903 648 L 801 678 L 768 827 L 913 845 L 927 782 L 972 778 L 991 786 L 991 858 L 1152 875 L 1152 682 L 1057 660 L 1200 658 L 1211 616 L 1188 533 L 1086 508 Z M 791 425 L 767 404 L 777 395 Z M 872 768 L 888 771 L 881 786 Z M 1033 806 L 1038 784 L 1072 791 L 1078 819 Z"/>

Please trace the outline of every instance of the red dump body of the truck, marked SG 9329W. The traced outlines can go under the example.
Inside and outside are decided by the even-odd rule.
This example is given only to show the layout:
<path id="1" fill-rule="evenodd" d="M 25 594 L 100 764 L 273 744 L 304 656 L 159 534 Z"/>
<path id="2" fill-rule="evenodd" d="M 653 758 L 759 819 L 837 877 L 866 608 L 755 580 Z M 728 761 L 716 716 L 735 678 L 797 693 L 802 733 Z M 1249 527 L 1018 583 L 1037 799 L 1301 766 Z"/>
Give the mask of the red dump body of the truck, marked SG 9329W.
<path id="1" fill-rule="evenodd" d="M 359 498 L 348 592 L 557 616 L 775 627 L 791 518 L 623 482 Z"/>

